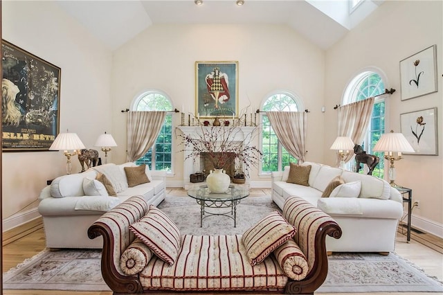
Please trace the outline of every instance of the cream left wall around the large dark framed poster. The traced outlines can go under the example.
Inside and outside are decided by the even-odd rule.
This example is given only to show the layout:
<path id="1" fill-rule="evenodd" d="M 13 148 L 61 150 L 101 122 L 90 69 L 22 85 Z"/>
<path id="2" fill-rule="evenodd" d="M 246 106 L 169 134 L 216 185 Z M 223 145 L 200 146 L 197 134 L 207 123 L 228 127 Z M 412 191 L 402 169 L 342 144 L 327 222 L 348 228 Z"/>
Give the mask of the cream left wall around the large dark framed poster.
<path id="1" fill-rule="evenodd" d="M 94 148 L 111 132 L 111 52 L 52 1 L 2 1 L 1 21 L 3 39 L 62 69 L 60 132 L 76 132 Z M 77 157 L 72 162 L 80 172 Z M 66 174 L 65 163 L 62 152 L 3 152 L 3 230 L 35 215 L 40 190 Z"/>

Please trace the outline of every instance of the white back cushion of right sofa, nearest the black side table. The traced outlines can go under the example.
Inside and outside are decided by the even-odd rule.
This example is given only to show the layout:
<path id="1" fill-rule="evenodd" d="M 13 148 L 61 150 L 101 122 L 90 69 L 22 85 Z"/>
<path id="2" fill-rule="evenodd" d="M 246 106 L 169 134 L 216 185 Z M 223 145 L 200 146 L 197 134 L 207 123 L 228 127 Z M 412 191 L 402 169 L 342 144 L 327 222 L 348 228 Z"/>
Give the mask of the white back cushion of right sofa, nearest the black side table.
<path id="1" fill-rule="evenodd" d="M 389 199 L 390 185 L 388 181 L 379 179 L 372 175 L 364 175 L 356 172 L 343 171 L 345 182 L 361 181 L 361 191 L 359 197 Z"/>

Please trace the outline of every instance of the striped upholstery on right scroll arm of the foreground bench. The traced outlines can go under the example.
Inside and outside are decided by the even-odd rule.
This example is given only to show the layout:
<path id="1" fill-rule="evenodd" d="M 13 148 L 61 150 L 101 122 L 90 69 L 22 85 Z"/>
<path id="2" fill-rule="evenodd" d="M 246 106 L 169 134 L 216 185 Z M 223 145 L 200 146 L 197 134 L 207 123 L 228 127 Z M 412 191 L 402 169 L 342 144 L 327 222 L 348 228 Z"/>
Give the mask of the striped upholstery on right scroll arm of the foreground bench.
<path id="1" fill-rule="evenodd" d="M 335 224 L 335 221 L 300 197 L 288 197 L 284 202 L 282 215 L 290 224 L 296 226 L 297 233 L 293 239 L 305 253 L 311 271 L 315 262 L 316 232 L 325 222 Z"/>

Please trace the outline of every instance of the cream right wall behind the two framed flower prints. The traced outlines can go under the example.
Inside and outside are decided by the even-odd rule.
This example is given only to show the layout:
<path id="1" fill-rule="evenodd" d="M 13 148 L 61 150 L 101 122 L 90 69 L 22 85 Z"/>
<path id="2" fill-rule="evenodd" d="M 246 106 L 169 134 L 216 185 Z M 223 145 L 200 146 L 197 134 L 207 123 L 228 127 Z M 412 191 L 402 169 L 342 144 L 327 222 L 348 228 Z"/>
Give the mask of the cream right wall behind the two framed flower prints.
<path id="1" fill-rule="evenodd" d="M 406 155 L 395 163 L 396 183 L 413 189 L 413 199 L 420 208 L 413 209 L 413 225 L 443 236 L 443 134 L 442 134 L 442 70 L 443 70 L 443 2 L 386 1 L 348 33 L 326 54 L 325 104 L 325 162 L 334 163 L 334 154 L 327 150 L 334 141 L 337 111 L 347 83 L 368 66 L 386 73 L 385 87 L 397 89 L 386 98 L 386 130 L 400 132 L 400 114 L 437 107 L 439 155 Z M 437 93 L 401 101 L 399 61 L 424 48 L 437 44 Z M 327 143 L 327 144 L 326 144 Z M 388 163 L 386 163 L 388 167 Z"/>

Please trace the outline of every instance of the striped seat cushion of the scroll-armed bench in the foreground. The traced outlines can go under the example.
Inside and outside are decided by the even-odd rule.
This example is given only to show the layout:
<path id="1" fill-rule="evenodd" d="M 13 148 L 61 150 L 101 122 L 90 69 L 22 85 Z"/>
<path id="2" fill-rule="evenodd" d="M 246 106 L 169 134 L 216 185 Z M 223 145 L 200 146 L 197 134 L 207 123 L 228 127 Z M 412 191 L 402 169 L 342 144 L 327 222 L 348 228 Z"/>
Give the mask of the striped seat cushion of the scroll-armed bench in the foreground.
<path id="1" fill-rule="evenodd" d="M 181 291 L 282 290 L 287 276 L 273 256 L 251 266 L 241 235 L 183 235 L 170 266 L 156 256 L 140 274 L 143 289 Z"/>

